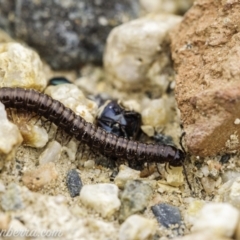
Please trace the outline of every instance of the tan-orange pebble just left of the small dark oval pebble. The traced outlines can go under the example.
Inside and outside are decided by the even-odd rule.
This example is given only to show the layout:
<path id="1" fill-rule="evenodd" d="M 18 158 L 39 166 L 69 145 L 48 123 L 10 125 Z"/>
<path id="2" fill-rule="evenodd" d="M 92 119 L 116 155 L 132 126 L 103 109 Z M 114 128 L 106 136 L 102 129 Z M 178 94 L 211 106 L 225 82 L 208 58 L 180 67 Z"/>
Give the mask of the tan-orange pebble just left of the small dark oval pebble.
<path id="1" fill-rule="evenodd" d="M 55 164 L 49 162 L 38 166 L 34 170 L 26 171 L 23 174 L 22 181 L 23 184 L 30 190 L 38 191 L 45 185 L 56 180 L 57 177 L 58 172 L 56 170 Z"/>

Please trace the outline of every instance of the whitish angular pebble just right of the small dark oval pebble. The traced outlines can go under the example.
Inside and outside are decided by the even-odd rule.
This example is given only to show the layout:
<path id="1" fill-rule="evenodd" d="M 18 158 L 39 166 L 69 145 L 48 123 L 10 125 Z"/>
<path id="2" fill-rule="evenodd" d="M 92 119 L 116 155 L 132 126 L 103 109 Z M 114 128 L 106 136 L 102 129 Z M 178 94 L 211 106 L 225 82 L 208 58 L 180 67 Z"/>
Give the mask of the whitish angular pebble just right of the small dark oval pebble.
<path id="1" fill-rule="evenodd" d="M 108 183 L 84 185 L 80 199 L 84 205 L 106 218 L 118 211 L 121 205 L 118 198 L 118 187 Z"/>

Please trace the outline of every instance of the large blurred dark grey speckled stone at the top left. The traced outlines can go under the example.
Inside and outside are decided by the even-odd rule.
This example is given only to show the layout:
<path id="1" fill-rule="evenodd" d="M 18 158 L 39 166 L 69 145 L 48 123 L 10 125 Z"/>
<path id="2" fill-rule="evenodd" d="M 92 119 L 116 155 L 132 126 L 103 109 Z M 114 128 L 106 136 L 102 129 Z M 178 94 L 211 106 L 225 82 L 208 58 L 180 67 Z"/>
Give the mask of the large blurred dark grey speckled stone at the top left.
<path id="1" fill-rule="evenodd" d="M 0 0 L 0 27 L 54 69 L 101 63 L 111 29 L 138 16 L 137 0 Z"/>

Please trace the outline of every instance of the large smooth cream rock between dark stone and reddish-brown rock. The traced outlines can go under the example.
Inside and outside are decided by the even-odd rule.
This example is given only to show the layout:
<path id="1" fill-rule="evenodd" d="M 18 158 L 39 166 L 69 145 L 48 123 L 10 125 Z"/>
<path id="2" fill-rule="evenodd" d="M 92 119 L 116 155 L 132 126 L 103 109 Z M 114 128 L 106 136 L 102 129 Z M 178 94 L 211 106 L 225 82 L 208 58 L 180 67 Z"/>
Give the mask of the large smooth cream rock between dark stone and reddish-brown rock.
<path id="1" fill-rule="evenodd" d="M 120 89 L 140 89 L 149 81 L 166 90 L 174 72 L 169 58 L 168 32 L 181 17 L 149 14 L 118 27 L 107 39 L 104 68 L 108 81 Z"/>

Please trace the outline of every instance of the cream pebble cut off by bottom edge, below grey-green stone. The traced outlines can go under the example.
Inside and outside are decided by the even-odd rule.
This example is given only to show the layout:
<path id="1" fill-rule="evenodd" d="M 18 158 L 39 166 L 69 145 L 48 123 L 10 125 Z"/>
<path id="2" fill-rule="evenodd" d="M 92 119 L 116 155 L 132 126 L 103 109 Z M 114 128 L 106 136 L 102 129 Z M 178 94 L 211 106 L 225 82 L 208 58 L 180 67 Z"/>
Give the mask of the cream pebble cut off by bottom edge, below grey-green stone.
<path id="1" fill-rule="evenodd" d="M 119 240 L 150 240 L 155 232 L 156 224 L 153 220 L 132 215 L 121 225 Z"/>

